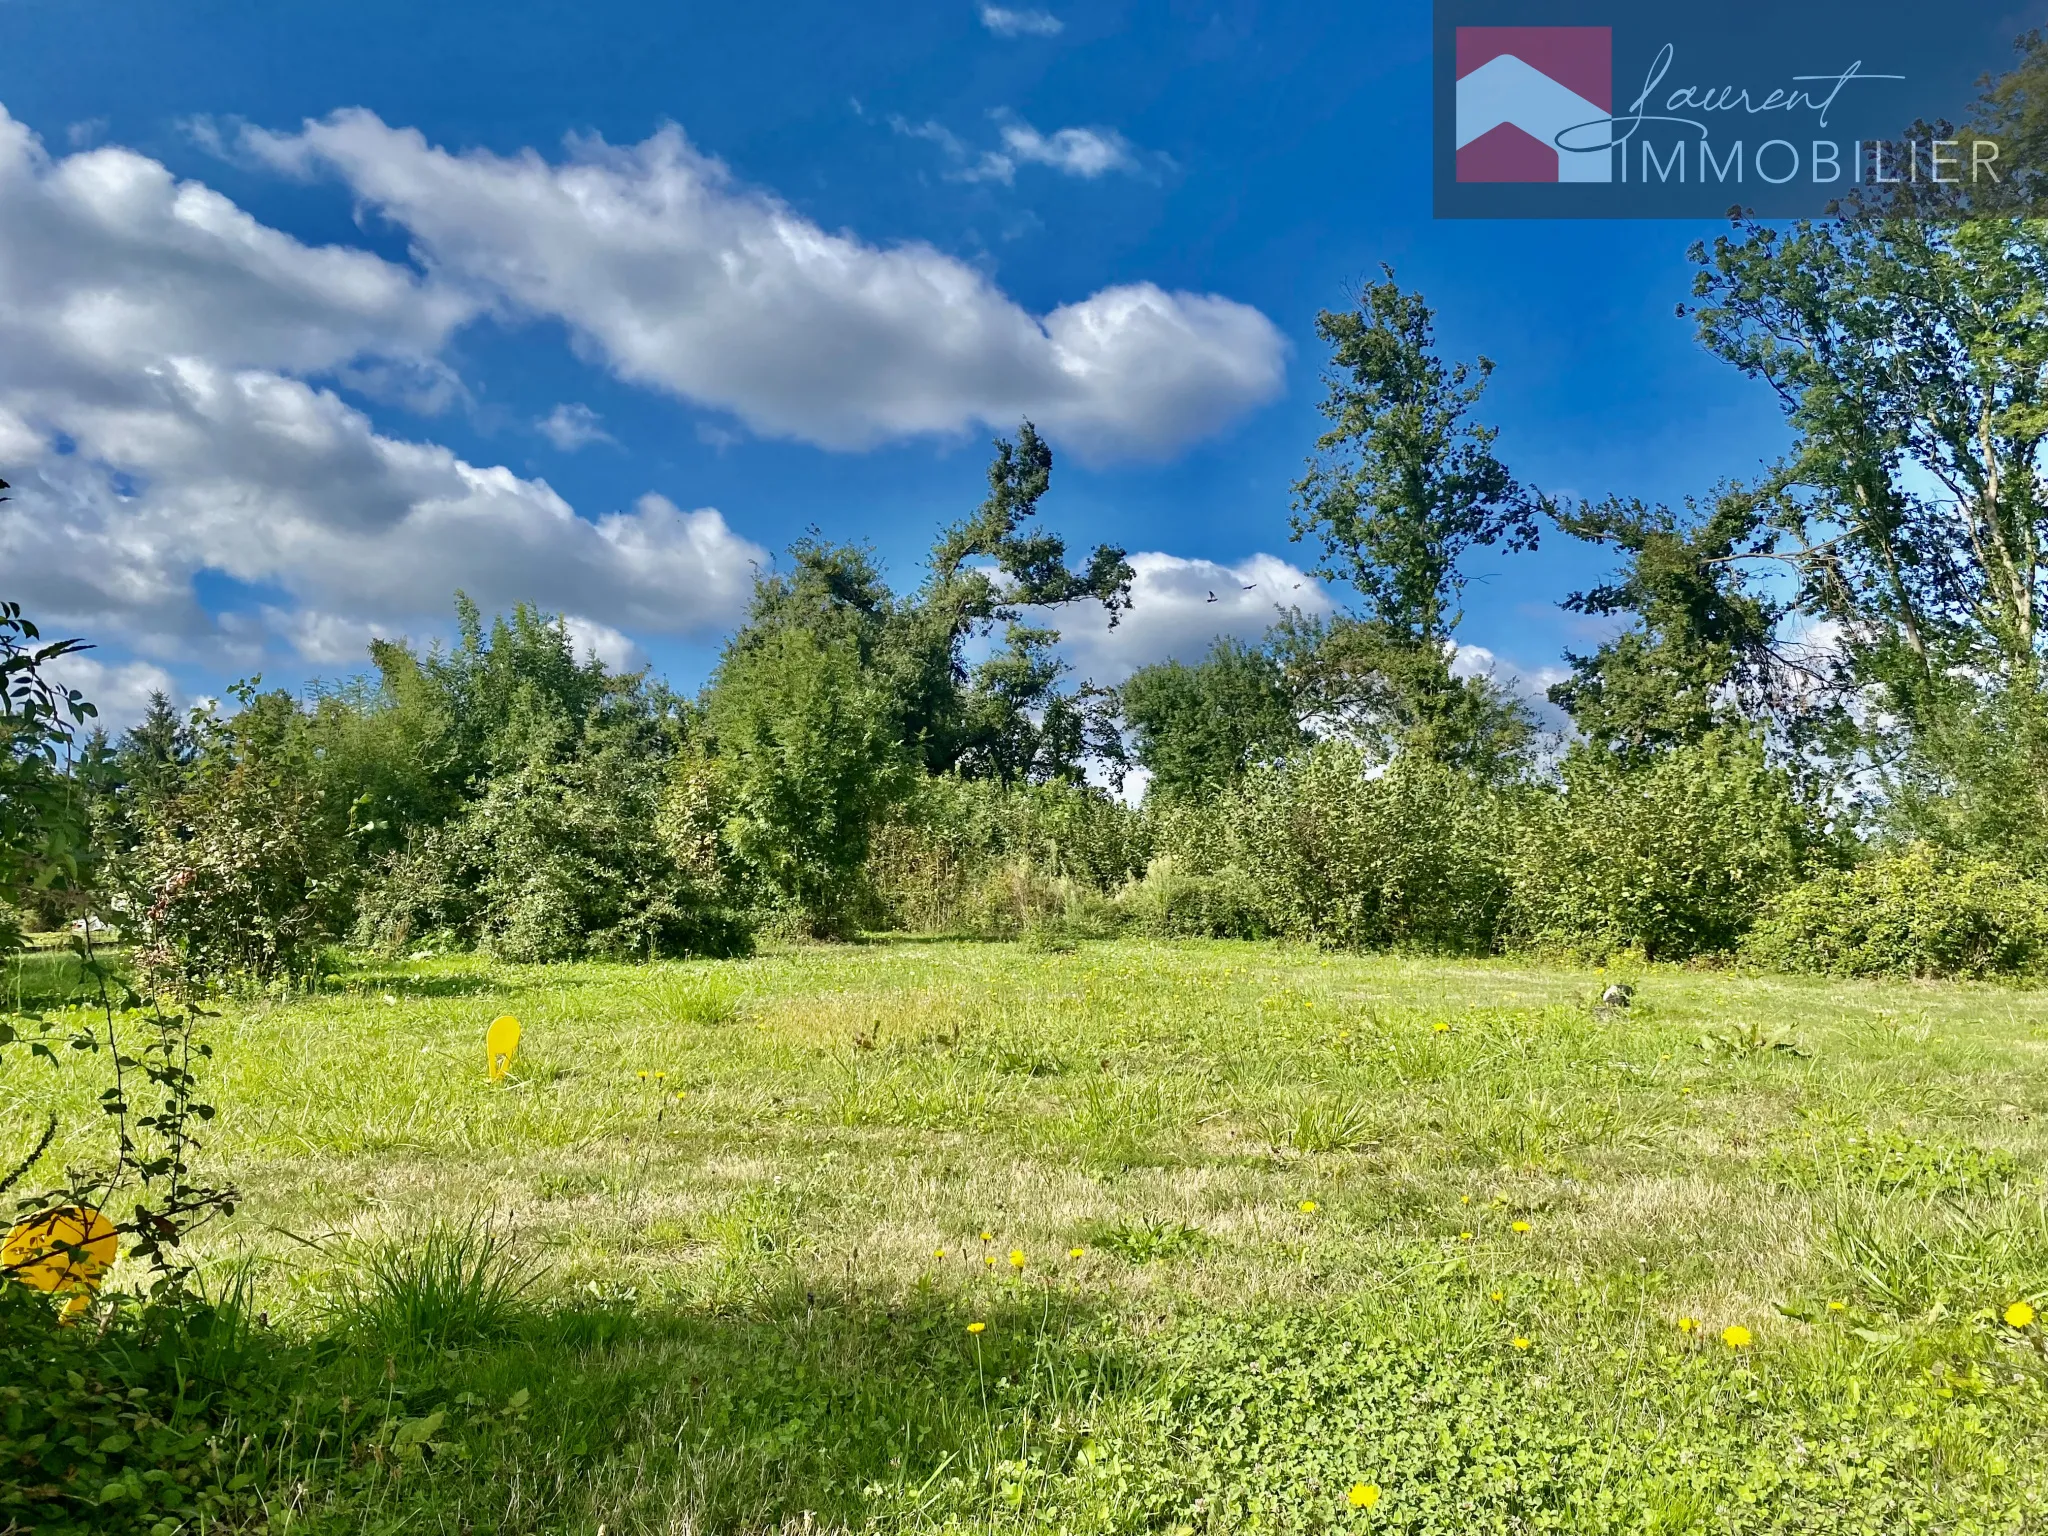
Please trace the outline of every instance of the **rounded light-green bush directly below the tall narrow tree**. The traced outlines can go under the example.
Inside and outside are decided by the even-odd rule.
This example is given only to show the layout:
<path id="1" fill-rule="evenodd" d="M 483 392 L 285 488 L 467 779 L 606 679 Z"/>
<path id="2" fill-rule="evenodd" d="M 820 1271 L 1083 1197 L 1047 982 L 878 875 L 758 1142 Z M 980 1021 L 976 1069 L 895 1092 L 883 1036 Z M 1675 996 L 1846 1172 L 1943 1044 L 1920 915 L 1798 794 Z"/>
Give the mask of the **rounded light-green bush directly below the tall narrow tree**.
<path id="1" fill-rule="evenodd" d="M 1374 776 L 1366 752 L 1323 741 L 1247 776 L 1231 840 L 1274 934 L 1487 952 L 1507 895 L 1507 813 L 1470 774 L 1401 758 Z"/>

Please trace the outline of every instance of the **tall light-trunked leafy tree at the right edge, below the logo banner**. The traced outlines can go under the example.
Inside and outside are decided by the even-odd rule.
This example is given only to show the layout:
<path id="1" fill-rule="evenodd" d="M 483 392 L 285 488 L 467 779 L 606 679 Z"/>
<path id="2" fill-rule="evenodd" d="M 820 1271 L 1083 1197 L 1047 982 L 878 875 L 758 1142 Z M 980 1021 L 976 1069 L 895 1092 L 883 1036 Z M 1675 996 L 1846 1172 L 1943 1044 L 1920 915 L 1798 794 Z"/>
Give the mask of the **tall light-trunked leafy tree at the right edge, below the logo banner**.
<path id="1" fill-rule="evenodd" d="M 1837 635 L 1841 750 L 1898 803 L 2017 791 L 1997 836 L 2048 850 L 2048 229 L 1741 225 L 1694 260 L 1700 338 L 1794 430 L 1751 555 Z"/>

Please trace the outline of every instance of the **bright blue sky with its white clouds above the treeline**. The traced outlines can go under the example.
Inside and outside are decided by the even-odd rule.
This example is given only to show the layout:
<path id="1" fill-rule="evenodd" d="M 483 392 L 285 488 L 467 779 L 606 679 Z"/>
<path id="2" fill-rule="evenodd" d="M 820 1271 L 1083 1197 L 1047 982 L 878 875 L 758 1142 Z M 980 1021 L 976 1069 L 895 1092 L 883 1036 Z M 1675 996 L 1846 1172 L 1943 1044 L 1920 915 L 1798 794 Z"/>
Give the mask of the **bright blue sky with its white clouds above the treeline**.
<path id="1" fill-rule="evenodd" d="M 1309 563 L 1313 319 L 1380 262 L 1497 360 L 1544 489 L 1673 500 L 1784 444 L 1673 317 L 1710 225 L 1430 217 L 1425 6 L 981 12 L 8 0 L 10 588 L 102 643 L 117 715 L 354 672 L 457 586 L 694 686 L 752 555 L 815 524 L 911 580 L 1028 408 L 1049 520 L 1171 557 L 1151 621 L 1077 639 L 1114 676 L 1257 629 Z M 940 297 L 874 299 L 905 274 Z M 1554 666 L 1597 571 L 1489 561 L 1464 639 Z M 1257 590 L 1206 604 L 1227 573 Z"/>

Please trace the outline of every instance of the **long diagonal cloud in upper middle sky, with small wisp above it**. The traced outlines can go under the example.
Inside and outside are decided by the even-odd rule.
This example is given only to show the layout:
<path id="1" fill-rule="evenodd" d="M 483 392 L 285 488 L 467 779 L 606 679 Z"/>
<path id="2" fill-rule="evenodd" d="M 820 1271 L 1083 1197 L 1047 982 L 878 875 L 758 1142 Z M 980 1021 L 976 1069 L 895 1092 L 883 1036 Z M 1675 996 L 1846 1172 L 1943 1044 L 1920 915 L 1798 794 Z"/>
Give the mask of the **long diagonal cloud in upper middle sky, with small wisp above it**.
<path id="1" fill-rule="evenodd" d="M 1028 133 L 1047 164 L 1116 154 Z M 1286 342 L 1249 305 L 1133 283 L 1034 317 L 963 260 L 831 233 L 735 184 L 676 127 L 631 147 L 571 139 L 551 164 L 449 154 L 346 111 L 244 147 L 332 168 L 410 231 L 436 283 L 557 317 L 618 377 L 762 436 L 862 449 L 1030 416 L 1090 457 L 1159 455 L 1282 383 Z"/>

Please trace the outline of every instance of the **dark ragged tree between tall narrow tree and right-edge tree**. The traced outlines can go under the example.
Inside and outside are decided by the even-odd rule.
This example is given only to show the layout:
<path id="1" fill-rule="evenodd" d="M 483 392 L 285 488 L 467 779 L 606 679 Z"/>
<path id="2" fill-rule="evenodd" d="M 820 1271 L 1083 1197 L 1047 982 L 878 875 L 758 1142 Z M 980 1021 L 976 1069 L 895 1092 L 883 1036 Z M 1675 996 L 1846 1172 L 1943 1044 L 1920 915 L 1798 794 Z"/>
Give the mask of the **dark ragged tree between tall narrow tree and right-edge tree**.
<path id="1" fill-rule="evenodd" d="M 1573 612 L 1632 623 L 1591 655 L 1565 653 L 1571 676 L 1552 684 L 1587 739 L 1620 752 L 1659 752 L 1755 721 L 1786 700 L 1788 666 L 1778 653 L 1784 602 L 1743 578 L 1763 498 L 1720 489 L 1708 508 L 1683 512 L 1610 498 L 1559 512 L 1575 539 L 1622 557 L 1616 580 L 1575 592 Z"/>

